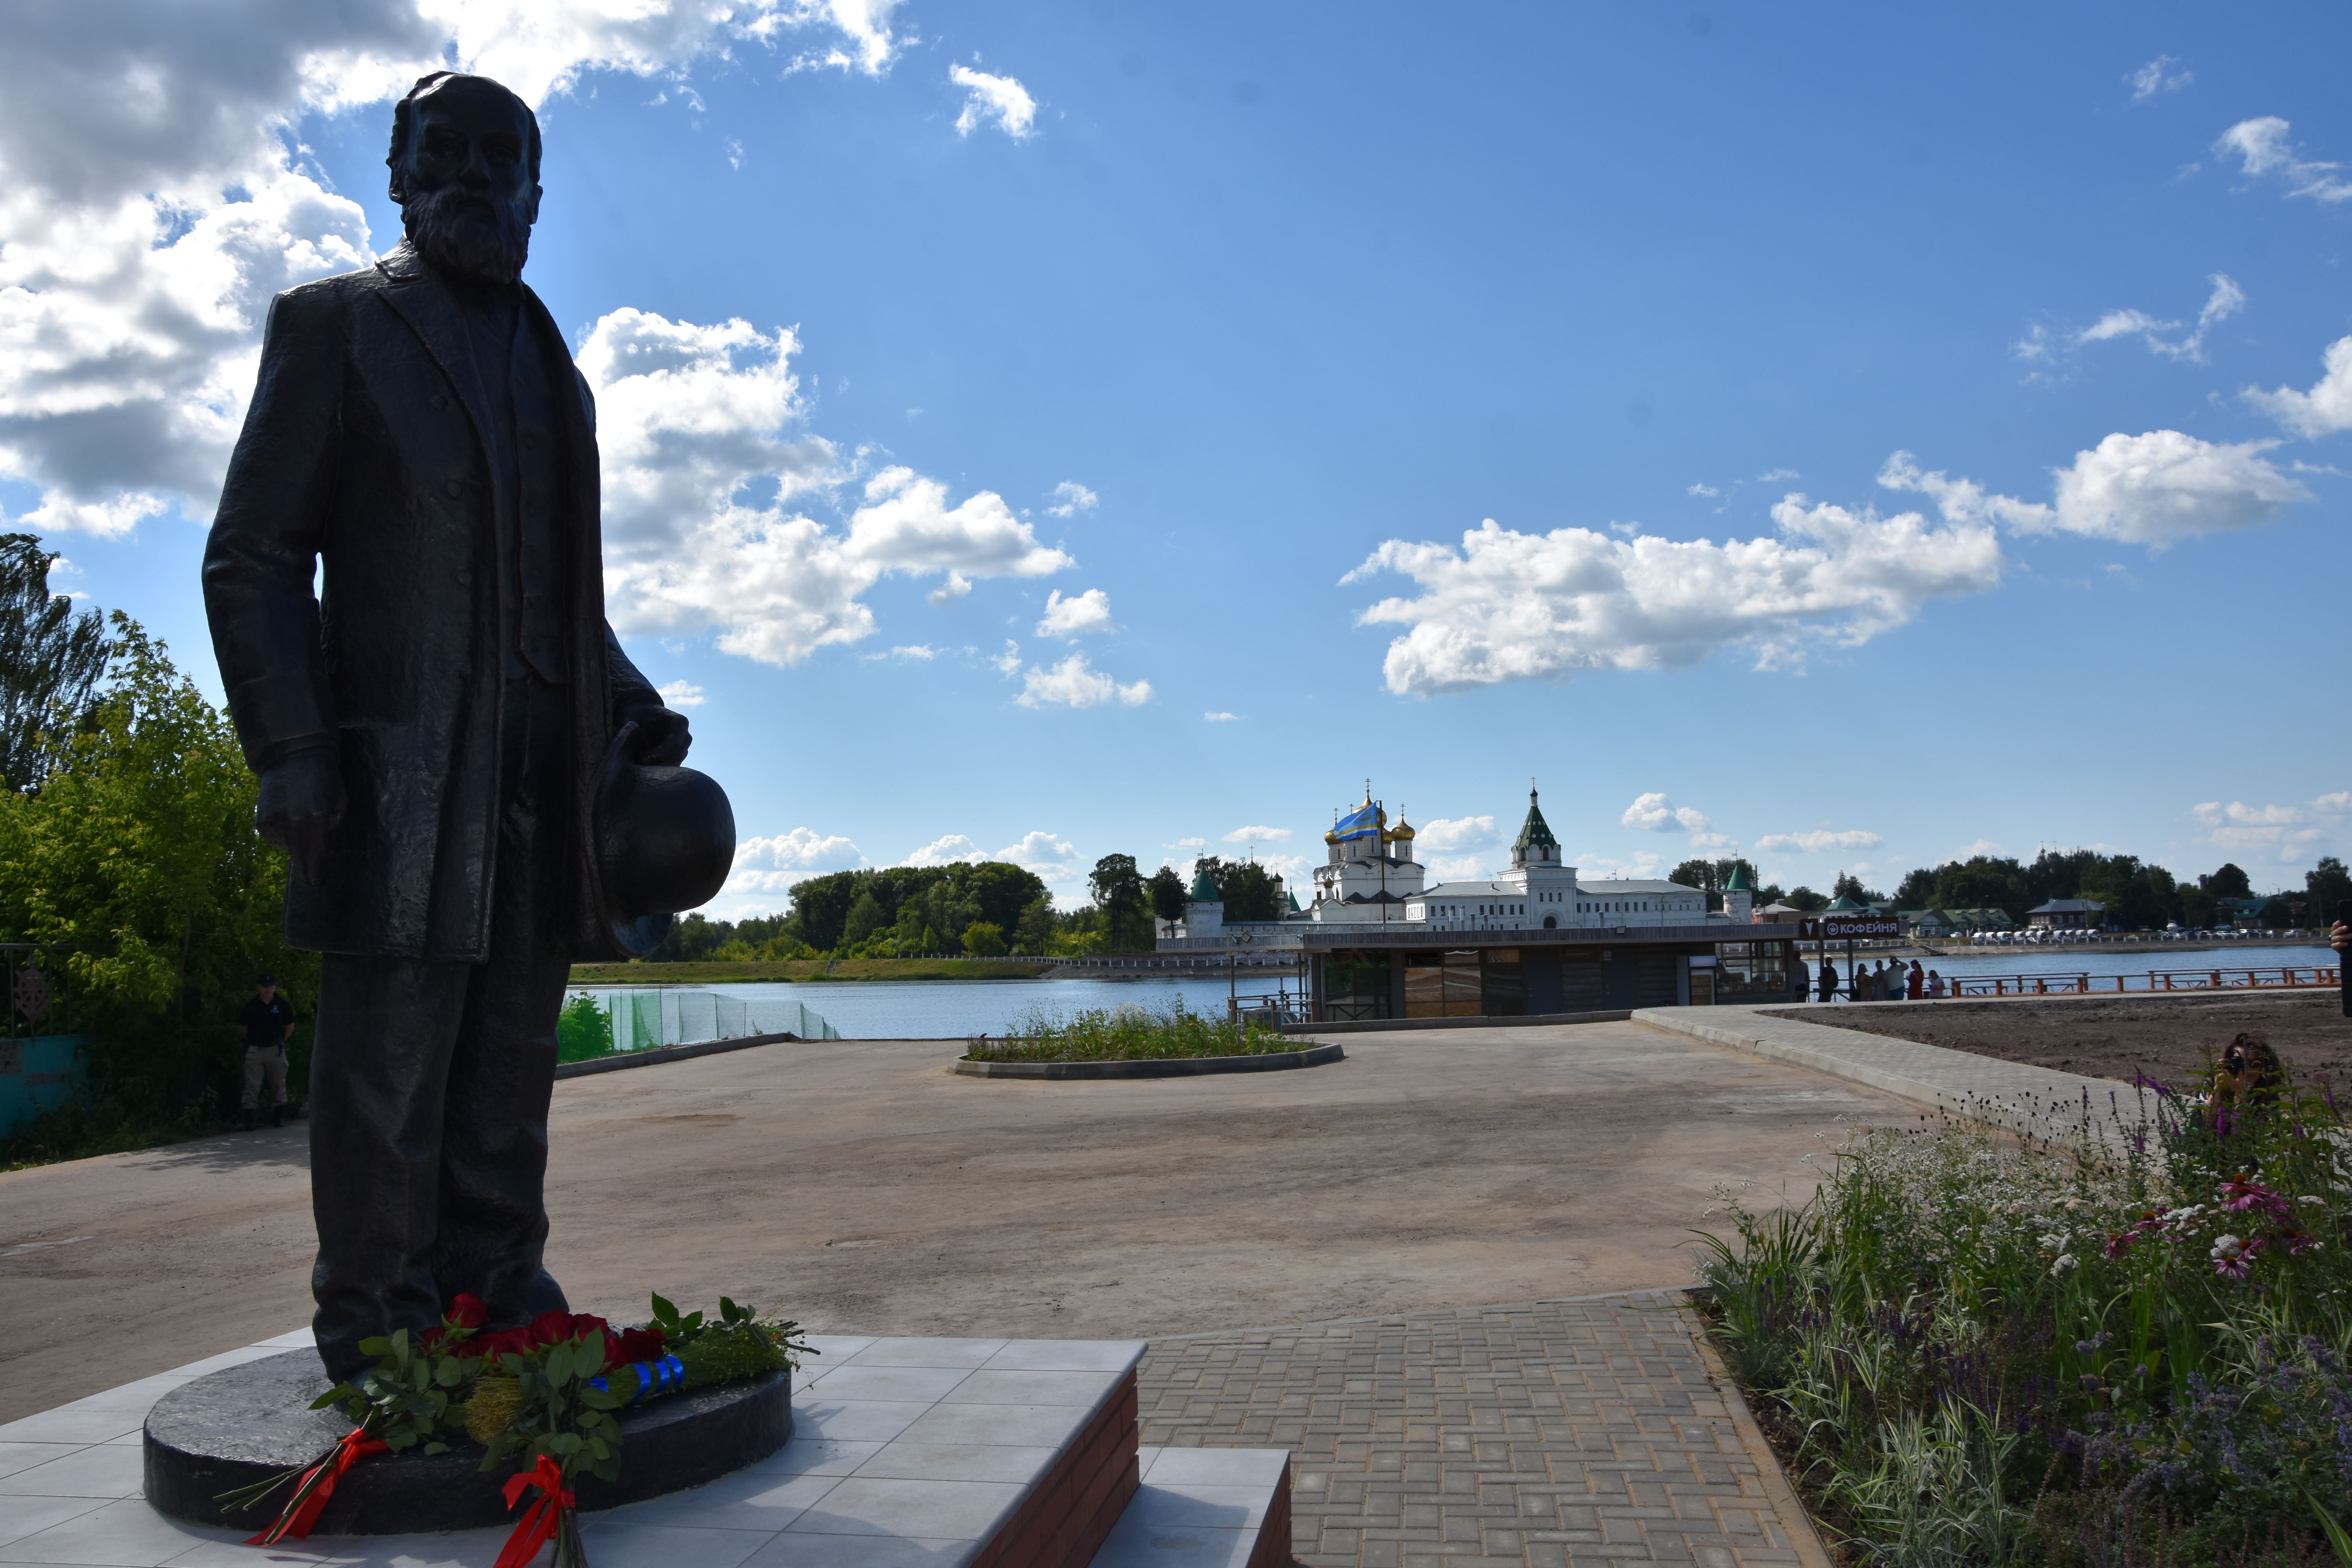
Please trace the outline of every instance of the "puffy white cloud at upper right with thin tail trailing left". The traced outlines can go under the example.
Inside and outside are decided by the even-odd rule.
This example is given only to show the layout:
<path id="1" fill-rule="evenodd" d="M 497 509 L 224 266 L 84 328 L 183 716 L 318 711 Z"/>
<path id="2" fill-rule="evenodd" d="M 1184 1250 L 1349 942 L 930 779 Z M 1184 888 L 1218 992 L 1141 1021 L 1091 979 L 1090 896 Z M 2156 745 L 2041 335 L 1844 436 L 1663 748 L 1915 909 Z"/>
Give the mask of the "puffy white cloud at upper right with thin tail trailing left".
<path id="1" fill-rule="evenodd" d="M 2277 442 L 2204 442 L 2180 430 L 2114 433 L 2053 470 L 2053 503 L 1999 496 L 1971 480 L 1924 473 L 1907 451 L 1886 458 L 1879 484 L 1919 491 L 1947 522 L 1999 522 L 2020 534 L 2084 534 L 2169 545 L 2197 534 L 2270 522 L 2312 494 L 2272 468 Z"/>

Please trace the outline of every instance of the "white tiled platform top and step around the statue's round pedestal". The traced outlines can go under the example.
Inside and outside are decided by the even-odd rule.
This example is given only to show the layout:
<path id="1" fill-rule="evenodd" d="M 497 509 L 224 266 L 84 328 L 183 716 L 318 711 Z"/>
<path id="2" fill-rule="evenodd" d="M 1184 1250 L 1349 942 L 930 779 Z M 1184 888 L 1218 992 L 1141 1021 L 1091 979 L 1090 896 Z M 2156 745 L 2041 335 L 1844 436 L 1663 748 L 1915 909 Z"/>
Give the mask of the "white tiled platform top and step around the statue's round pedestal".
<path id="1" fill-rule="evenodd" d="M 252 1530 L 148 1509 L 139 1434 L 155 1399 L 306 1345 L 296 1331 L 0 1427 L 0 1563 L 489 1568 L 506 1530 L 261 1549 L 242 1544 Z M 583 1516 L 597 1568 L 960 1568 L 1143 1354 L 1141 1340 L 811 1335 L 811 1347 L 793 1441 L 710 1486 Z M 1096 1568 L 1242 1568 L 1287 1460 L 1279 1448 L 1145 1448 L 1143 1490 Z"/>

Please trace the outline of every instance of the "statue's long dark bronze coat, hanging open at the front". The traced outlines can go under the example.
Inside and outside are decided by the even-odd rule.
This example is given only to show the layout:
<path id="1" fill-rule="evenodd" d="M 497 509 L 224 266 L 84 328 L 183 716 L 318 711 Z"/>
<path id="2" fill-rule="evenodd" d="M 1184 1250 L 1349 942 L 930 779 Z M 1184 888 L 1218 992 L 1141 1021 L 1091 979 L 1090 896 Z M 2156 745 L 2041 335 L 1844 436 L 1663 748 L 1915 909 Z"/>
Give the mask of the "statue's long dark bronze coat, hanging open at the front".
<path id="1" fill-rule="evenodd" d="M 541 360 L 572 355 L 522 292 Z M 350 811 L 325 875 L 287 889 L 287 940 L 482 961 L 499 844 L 499 487 L 461 306 L 407 247 L 270 306 L 245 433 L 205 548 L 205 609 L 252 769 L 332 741 Z M 553 388 L 564 473 L 572 898 L 579 957 L 614 957 L 588 842 L 597 766 L 628 708 L 661 698 L 604 625 L 595 404 Z M 313 597 L 313 559 L 325 592 Z"/>

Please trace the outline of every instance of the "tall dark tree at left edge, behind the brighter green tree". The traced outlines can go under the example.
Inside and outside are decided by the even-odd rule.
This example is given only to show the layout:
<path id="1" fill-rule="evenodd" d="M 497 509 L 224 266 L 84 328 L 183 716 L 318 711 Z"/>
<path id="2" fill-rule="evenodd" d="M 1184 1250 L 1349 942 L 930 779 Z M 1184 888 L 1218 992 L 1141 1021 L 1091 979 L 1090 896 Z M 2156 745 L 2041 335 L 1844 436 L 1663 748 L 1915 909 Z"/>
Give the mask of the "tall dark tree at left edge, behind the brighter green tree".
<path id="1" fill-rule="evenodd" d="M 38 790 L 106 672 L 106 621 L 49 595 L 56 555 L 0 534 L 0 785 Z"/>

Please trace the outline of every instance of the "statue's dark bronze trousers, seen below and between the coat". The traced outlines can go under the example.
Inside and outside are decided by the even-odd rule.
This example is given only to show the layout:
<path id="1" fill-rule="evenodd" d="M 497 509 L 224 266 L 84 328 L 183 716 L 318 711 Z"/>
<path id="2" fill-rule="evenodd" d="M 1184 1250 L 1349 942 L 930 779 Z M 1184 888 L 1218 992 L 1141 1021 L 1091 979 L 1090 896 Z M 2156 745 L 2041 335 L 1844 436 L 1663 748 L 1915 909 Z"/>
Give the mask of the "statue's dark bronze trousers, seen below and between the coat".
<path id="1" fill-rule="evenodd" d="M 494 1324 L 562 1307 L 541 1267 L 562 1009 L 564 708 L 508 689 L 489 961 L 327 954 L 310 1056 L 315 1333 L 343 1378 L 360 1340 L 421 1331 L 468 1291 Z"/>

